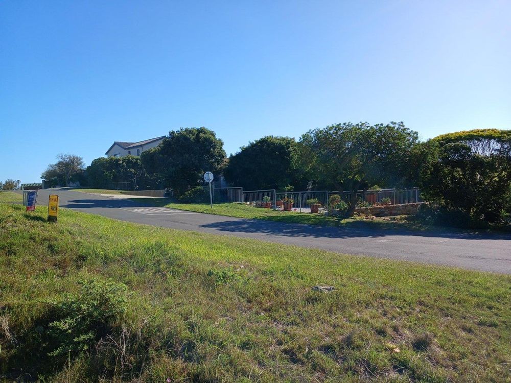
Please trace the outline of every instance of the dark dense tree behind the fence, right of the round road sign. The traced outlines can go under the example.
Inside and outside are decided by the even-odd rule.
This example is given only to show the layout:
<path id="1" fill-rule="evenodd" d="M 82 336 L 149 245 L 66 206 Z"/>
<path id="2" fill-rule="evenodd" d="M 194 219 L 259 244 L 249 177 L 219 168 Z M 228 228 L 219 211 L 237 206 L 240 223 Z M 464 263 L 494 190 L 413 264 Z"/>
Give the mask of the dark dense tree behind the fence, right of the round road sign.
<path id="1" fill-rule="evenodd" d="M 249 142 L 231 155 L 225 166 L 225 179 L 247 190 L 282 189 L 295 184 L 299 173 L 291 164 L 294 138 L 266 136 Z"/>

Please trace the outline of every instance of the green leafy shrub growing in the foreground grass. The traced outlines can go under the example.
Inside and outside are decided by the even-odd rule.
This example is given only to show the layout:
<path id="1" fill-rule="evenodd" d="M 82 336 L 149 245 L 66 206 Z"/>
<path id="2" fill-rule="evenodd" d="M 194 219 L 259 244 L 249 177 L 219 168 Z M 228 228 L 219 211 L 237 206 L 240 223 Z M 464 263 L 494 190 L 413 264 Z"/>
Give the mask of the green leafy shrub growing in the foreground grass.
<path id="1" fill-rule="evenodd" d="M 68 357 L 103 338 L 126 312 L 126 286 L 112 281 L 80 280 L 80 293 L 51 302 L 55 320 L 47 327 L 50 356 Z"/>

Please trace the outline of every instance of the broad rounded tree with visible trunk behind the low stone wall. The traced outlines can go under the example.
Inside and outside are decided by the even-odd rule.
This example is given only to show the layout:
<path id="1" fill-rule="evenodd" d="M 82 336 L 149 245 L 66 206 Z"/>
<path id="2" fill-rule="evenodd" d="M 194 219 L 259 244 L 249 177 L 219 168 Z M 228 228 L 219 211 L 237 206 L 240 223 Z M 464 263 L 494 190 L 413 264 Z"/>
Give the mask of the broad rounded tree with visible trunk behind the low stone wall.
<path id="1" fill-rule="evenodd" d="M 410 182 L 407 168 L 417 137 L 403 123 L 330 125 L 301 136 L 293 159 L 323 187 L 349 191 L 351 216 L 358 190 Z"/>

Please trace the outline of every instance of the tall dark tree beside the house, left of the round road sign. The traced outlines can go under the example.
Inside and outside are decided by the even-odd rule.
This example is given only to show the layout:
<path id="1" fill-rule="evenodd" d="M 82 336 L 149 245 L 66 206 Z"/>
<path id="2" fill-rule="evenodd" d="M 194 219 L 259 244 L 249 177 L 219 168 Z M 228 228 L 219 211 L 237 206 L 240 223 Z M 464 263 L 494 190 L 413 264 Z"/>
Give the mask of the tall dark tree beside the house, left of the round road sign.
<path id="1" fill-rule="evenodd" d="M 141 156 L 146 171 L 159 177 L 176 196 L 199 185 L 204 172 L 217 173 L 224 159 L 223 141 L 204 127 L 171 131 L 160 145 Z"/>

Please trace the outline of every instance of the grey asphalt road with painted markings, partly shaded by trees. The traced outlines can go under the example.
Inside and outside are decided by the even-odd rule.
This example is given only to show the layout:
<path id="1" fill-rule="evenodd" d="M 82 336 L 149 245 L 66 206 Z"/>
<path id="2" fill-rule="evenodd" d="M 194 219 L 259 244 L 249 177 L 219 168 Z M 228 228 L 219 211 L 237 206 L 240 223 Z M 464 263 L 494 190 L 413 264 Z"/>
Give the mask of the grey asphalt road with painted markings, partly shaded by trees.
<path id="1" fill-rule="evenodd" d="M 511 274 L 511 235 L 508 234 L 403 232 L 247 220 L 152 207 L 69 190 L 39 190 L 38 203 L 47 204 L 50 193 L 60 196 L 61 207 L 121 221 Z"/>

